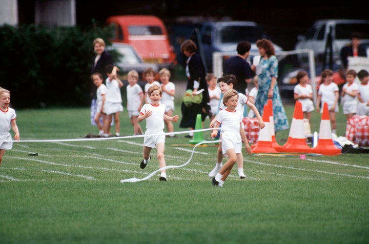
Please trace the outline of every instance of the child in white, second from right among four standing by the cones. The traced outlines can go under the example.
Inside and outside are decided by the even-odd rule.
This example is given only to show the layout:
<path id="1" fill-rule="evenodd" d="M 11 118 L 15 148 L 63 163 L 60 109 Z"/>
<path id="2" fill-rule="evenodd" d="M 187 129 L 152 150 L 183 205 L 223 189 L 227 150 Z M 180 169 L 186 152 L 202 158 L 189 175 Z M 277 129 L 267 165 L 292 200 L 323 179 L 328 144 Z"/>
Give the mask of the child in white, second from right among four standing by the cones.
<path id="1" fill-rule="evenodd" d="M 342 87 L 342 110 L 346 115 L 347 120 L 354 116 L 357 111 L 357 92 L 358 86 L 354 82 L 356 78 L 355 70 L 348 70 L 346 72 L 346 83 Z"/>

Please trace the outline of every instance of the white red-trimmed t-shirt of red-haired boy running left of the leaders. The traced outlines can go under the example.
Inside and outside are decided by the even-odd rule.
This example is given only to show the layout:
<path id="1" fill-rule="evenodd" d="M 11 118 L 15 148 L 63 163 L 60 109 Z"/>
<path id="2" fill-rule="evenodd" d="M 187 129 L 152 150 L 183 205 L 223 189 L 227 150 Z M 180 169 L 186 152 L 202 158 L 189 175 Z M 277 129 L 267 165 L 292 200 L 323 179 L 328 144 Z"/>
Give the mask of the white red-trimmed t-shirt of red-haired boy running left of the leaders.
<path id="1" fill-rule="evenodd" d="M 166 106 L 158 104 L 156 106 L 152 104 L 144 104 L 140 111 L 141 114 L 145 114 L 147 111 L 152 111 L 150 117 L 146 118 L 147 130 L 162 130 L 164 129 L 164 113 Z"/>

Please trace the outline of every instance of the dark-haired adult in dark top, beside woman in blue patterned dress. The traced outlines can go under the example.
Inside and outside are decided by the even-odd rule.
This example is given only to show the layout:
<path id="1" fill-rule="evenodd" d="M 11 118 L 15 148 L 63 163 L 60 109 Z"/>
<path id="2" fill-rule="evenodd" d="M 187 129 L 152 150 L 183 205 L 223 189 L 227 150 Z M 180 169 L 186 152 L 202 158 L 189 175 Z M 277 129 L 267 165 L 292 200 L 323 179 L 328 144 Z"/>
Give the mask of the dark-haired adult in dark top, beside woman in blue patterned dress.
<path id="1" fill-rule="evenodd" d="M 248 84 L 251 82 L 251 67 L 246 61 L 250 55 L 251 44 L 246 41 L 237 44 L 237 56 L 230 57 L 224 64 L 224 75 L 234 74 L 238 84 L 234 89 L 238 93 L 245 94 Z"/>

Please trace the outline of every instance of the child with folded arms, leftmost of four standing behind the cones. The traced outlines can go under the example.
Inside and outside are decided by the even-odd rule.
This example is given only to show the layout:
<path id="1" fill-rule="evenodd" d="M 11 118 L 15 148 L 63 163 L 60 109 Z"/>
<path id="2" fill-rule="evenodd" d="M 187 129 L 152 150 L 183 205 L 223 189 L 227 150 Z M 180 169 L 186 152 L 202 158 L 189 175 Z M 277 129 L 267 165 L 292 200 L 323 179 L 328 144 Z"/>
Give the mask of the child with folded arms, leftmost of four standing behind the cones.
<path id="1" fill-rule="evenodd" d="M 311 113 L 314 111 L 313 88 L 309 84 L 309 75 L 306 71 L 300 70 L 296 75 L 297 85 L 294 88 L 294 99 L 301 102 L 304 118 L 309 120 L 311 125 Z"/>

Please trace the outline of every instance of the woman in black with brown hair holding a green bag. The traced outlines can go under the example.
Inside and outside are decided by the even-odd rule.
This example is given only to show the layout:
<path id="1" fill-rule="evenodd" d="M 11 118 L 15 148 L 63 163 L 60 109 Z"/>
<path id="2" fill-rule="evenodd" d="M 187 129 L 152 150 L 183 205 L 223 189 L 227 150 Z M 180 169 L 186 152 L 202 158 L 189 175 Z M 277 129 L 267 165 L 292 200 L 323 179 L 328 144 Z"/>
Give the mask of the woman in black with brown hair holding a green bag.
<path id="1" fill-rule="evenodd" d="M 203 66 L 200 55 L 196 53 L 196 44 L 187 39 L 180 46 L 181 52 L 186 55 L 186 76 L 188 77 L 186 90 L 192 90 L 192 95 L 203 89 L 201 103 L 191 103 L 190 105 L 181 104 L 182 118 L 179 124 L 180 128 L 190 128 L 193 130 L 196 125 L 197 114 L 201 114 L 202 122 L 208 116 L 210 112 L 209 106 L 209 92 L 206 83 L 206 71 Z M 190 132 L 186 137 L 193 137 L 194 133 Z"/>

